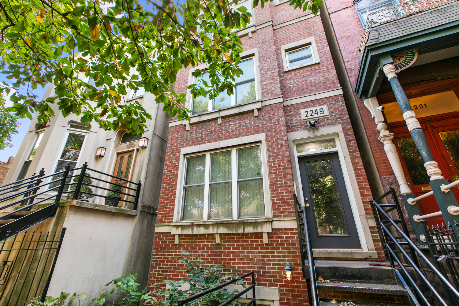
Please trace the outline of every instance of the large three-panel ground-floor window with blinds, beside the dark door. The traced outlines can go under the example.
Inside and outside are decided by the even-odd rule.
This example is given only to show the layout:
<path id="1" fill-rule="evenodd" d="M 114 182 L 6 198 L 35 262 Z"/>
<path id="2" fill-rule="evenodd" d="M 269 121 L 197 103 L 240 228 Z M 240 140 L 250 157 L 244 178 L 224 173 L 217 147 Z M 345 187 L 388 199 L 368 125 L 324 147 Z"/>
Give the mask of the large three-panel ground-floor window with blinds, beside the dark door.
<path id="1" fill-rule="evenodd" d="M 182 220 L 265 217 L 260 146 L 185 159 Z"/>

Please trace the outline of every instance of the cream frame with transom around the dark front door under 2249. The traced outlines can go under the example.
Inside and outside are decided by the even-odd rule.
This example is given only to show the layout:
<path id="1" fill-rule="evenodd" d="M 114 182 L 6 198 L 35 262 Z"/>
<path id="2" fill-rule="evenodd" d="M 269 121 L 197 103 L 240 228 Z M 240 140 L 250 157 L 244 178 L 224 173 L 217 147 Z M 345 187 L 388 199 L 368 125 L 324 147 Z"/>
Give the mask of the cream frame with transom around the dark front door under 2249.
<path id="1" fill-rule="evenodd" d="M 327 149 L 327 150 L 320 150 L 320 151 L 313 151 L 313 152 L 303 152 L 303 153 L 297 153 L 297 145 L 301 145 L 307 142 L 314 142 L 314 141 L 320 141 L 320 140 L 325 140 L 325 139 L 334 139 L 336 148 L 333 149 Z M 341 171 L 344 177 L 344 184 L 346 186 L 346 191 L 347 191 L 347 196 L 349 198 L 349 202 L 351 204 L 351 211 L 352 211 L 352 217 L 354 218 L 354 223 L 357 228 L 357 234 L 358 234 L 358 239 L 361 245 L 361 248 L 348 248 L 348 249 L 343 249 L 343 248 L 327 248 L 327 249 L 317 249 L 317 250 L 363 250 L 363 251 L 368 251 L 368 242 L 365 239 L 365 234 L 364 234 L 364 228 L 362 227 L 360 215 L 359 215 L 359 208 L 357 206 L 357 200 L 354 194 L 354 190 L 352 187 L 352 181 L 349 175 L 349 171 L 347 167 L 352 167 L 352 162 L 349 158 L 348 161 L 344 158 L 344 153 L 343 153 L 343 146 L 344 145 L 344 150 L 347 150 L 346 142 L 345 139 L 343 139 L 343 144 L 341 144 L 339 134 L 333 133 L 333 134 L 324 134 L 320 136 L 313 136 L 313 137 L 307 137 L 307 138 L 302 138 L 302 139 L 295 139 L 293 140 L 293 154 L 295 156 L 295 166 L 296 166 L 296 171 L 297 171 L 297 178 L 298 178 L 298 190 L 300 192 L 300 202 L 302 205 L 304 205 L 304 195 L 303 195 L 303 190 L 301 188 L 302 181 L 301 181 L 301 174 L 300 174 L 300 167 L 298 163 L 298 157 L 304 157 L 304 156 L 313 156 L 313 155 L 321 155 L 325 153 L 338 153 L 338 158 L 340 161 L 340 166 L 341 166 Z M 347 154 L 348 155 L 348 154 Z M 355 178 L 354 178 L 355 180 Z M 355 181 L 353 184 L 357 185 L 357 181 Z M 295 188 L 295 193 L 296 193 L 296 188 Z M 355 192 L 357 192 L 360 196 L 360 192 L 357 189 Z M 364 208 L 362 207 L 362 210 Z M 316 249 L 314 249 L 316 250 Z"/>

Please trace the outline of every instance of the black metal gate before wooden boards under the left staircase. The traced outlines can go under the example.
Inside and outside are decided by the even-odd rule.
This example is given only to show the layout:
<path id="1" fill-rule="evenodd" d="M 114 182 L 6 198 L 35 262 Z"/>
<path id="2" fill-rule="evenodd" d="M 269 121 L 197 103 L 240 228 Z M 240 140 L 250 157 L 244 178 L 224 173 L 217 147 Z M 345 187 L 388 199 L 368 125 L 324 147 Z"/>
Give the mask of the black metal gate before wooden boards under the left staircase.
<path id="1" fill-rule="evenodd" d="M 66 228 L 61 233 L 25 231 L 0 242 L 0 305 L 45 300 Z"/>

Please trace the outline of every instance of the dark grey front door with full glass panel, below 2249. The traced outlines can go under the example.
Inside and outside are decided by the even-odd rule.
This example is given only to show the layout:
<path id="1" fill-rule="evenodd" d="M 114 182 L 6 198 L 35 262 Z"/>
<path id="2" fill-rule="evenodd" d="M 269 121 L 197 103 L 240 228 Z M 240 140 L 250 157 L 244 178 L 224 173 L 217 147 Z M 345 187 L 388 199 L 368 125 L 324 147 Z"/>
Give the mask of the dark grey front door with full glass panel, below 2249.
<path id="1" fill-rule="evenodd" d="M 360 248 L 338 153 L 299 157 L 313 248 Z"/>

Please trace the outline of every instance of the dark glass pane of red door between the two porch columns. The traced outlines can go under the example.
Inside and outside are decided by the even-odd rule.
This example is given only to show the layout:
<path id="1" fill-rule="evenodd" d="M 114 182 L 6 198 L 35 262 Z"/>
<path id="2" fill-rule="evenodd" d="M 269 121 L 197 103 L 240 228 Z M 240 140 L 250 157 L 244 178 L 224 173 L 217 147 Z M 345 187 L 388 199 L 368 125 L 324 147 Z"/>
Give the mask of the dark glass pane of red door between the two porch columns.
<path id="1" fill-rule="evenodd" d="M 397 139 L 397 145 L 402 152 L 403 160 L 408 168 L 409 176 L 414 185 L 427 185 L 430 178 L 424 167 L 424 160 L 411 137 Z"/>

